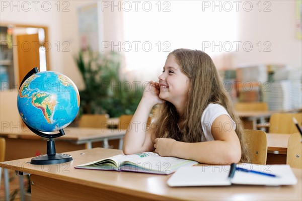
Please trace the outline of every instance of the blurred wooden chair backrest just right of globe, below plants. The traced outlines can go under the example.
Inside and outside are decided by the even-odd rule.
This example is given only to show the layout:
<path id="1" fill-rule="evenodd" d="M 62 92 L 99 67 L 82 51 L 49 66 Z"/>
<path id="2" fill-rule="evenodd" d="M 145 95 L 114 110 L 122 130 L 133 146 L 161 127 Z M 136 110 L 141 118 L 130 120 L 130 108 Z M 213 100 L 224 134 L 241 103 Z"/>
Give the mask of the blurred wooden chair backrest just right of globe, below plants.
<path id="1" fill-rule="evenodd" d="M 107 128 L 109 126 L 108 115 L 82 115 L 79 127 L 85 128 Z"/>

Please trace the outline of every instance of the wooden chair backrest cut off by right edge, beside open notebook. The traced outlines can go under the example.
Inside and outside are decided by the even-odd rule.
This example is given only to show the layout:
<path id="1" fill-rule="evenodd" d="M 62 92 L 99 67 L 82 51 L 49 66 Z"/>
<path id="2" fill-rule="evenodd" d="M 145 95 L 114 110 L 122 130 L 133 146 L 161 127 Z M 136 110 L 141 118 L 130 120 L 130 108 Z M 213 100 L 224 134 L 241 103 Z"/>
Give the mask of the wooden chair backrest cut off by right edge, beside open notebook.
<path id="1" fill-rule="evenodd" d="M 302 168 L 302 137 L 300 133 L 289 136 L 287 144 L 286 164 L 292 168 Z"/>

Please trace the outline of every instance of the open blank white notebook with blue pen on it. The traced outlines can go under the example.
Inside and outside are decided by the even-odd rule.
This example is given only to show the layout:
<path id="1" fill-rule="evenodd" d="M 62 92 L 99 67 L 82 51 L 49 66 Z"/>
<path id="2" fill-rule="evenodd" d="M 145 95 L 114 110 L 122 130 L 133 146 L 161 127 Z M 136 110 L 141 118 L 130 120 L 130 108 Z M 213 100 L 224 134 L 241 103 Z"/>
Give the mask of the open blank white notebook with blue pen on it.
<path id="1" fill-rule="evenodd" d="M 240 168 L 247 171 L 237 170 Z M 231 169 L 230 165 L 182 167 L 168 179 L 167 183 L 169 186 L 294 185 L 297 183 L 289 165 L 235 164 L 234 174 L 230 177 Z"/>

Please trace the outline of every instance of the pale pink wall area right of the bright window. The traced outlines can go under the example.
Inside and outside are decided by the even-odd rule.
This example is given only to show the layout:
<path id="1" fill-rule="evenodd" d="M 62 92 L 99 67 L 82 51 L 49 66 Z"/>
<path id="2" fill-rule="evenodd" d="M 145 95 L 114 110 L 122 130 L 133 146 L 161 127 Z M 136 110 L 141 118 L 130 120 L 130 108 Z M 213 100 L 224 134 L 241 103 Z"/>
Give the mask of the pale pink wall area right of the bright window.
<path id="1" fill-rule="evenodd" d="M 240 13 L 239 41 L 251 42 L 253 49 L 248 52 L 241 46 L 241 51 L 236 52 L 234 63 L 273 63 L 301 67 L 302 41 L 296 38 L 295 2 L 268 2 L 271 5 L 262 4 L 261 12 L 258 7 L 251 12 Z M 264 12 L 265 9 L 271 11 Z M 260 49 L 260 45 L 257 45 L 259 41 L 262 45 Z"/>

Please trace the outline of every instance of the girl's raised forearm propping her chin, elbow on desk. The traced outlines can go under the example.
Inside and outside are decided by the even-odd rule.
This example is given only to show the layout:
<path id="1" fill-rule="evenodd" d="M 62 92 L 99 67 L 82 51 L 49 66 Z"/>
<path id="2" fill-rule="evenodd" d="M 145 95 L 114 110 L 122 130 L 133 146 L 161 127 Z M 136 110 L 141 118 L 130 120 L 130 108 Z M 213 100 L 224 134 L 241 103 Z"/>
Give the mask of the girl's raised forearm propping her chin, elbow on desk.
<path id="1" fill-rule="evenodd" d="M 148 103 L 146 98 L 140 100 L 124 137 L 123 152 L 125 154 L 147 151 L 148 146 L 144 144 L 146 123 L 152 108 L 153 104 Z"/>

